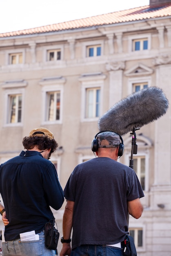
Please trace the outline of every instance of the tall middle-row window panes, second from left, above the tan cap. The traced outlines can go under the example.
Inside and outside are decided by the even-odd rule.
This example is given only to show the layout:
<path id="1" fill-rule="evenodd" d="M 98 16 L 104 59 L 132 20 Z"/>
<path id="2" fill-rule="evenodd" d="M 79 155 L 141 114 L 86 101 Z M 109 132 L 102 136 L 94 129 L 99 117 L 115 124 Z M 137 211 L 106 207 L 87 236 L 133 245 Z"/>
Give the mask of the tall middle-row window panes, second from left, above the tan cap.
<path id="1" fill-rule="evenodd" d="M 60 119 L 60 91 L 47 92 L 47 121 Z"/>

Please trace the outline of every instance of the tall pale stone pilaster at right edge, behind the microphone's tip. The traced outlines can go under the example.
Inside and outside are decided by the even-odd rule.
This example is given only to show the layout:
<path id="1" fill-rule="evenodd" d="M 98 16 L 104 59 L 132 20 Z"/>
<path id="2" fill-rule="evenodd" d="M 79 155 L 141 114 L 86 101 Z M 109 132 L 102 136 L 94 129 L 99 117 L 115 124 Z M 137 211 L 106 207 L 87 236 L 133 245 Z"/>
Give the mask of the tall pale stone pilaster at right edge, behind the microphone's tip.
<path id="1" fill-rule="evenodd" d="M 171 58 L 155 58 L 156 86 L 171 102 Z M 171 209 L 171 106 L 155 121 L 154 182 L 151 187 L 152 209 Z"/>

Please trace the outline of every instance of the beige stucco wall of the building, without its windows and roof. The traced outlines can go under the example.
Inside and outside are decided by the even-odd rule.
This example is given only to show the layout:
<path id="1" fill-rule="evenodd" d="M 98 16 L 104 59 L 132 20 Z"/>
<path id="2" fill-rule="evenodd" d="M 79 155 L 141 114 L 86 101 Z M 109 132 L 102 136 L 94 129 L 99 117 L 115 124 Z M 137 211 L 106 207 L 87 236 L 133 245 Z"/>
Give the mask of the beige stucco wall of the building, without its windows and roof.
<path id="1" fill-rule="evenodd" d="M 161 47 L 161 38 L 159 40 L 156 29 L 161 24 L 168 26 L 170 20 L 164 18 L 150 20 L 148 24 L 139 21 L 101 26 L 99 29 L 73 29 L 36 36 L 0 38 L 0 163 L 20 153 L 23 149 L 22 138 L 27 136 L 32 128 L 45 126 L 54 133 L 59 147 L 62 146 L 62 149 L 53 154 L 52 159 L 58 161 L 59 180 L 64 188 L 80 159 L 94 157 L 91 141 L 98 132 L 98 119 L 82 121 L 83 83 L 93 84 L 100 81 L 102 84 L 101 115 L 120 99 L 127 97 L 131 93 L 131 81 L 139 79 L 149 79 L 150 86 L 162 88 L 171 101 L 171 46 L 168 40 L 169 32 L 164 27 L 164 47 Z M 109 44 L 108 40 L 110 34 L 113 34 L 112 44 Z M 118 41 L 118 35 L 122 35 L 121 41 Z M 141 35 L 149 35 L 151 48 L 147 51 L 132 52 L 131 38 Z M 75 45 L 70 48 L 69 42 L 72 40 L 75 40 Z M 87 43 L 91 45 L 96 42 L 103 45 L 102 56 L 86 58 L 85 46 Z M 62 47 L 62 60 L 47 63 L 46 49 L 53 46 Z M 24 51 L 24 64 L 7 65 L 8 52 L 16 49 Z M 156 61 L 156 58 L 160 58 L 160 61 Z M 143 72 L 134 73 L 132 69 L 136 66 Z M 85 73 L 89 73 L 86 78 L 82 76 Z M 54 79 L 45 82 L 44 78 Z M 24 82 L 16 82 L 19 80 Z M 7 84 L 6 81 L 14 82 Z M 44 123 L 43 88 L 59 84 L 63 88 L 62 122 Z M 8 126 L 5 124 L 5 95 L 8 91 L 20 89 L 24 91 L 22 124 Z M 126 165 L 129 165 L 131 154 L 129 136 L 129 133 L 123 136 L 125 153 L 120 159 L 120 162 Z M 144 192 L 145 198 L 142 198 L 142 217 L 139 220 L 130 218 L 130 227 L 144 227 L 144 247 L 138 251 L 138 256 L 169 255 L 167 240 L 168 237 L 171 238 L 171 108 L 169 107 L 166 115 L 138 130 L 137 138 L 138 152 L 144 150 L 149 156 L 146 177 L 148 190 Z M 145 139 L 147 146 L 143 146 L 142 141 Z M 164 209 L 159 208 L 158 204 L 164 204 Z M 58 213 L 54 211 L 61 235 L 64 205 Z M 59 249 L 60 247 L 59 242 Z"/>

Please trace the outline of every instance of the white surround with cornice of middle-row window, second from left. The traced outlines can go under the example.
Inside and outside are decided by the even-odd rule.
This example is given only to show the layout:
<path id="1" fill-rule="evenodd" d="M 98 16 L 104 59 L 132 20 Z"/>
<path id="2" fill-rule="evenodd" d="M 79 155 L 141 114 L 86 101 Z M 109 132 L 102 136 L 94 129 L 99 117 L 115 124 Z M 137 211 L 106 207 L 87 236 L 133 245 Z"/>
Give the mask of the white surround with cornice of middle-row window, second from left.
<path id="1" fill-rule="evenodd" d="M 53 82 L 42 81 L 39 84 L 42 85 L 42 124 L 62 124 L 62 113 L 63 113 L 63 85 L 65 79 L 54 80 Z M 60 92 L 60 119 L 54 121 L 47 121 L 47 92 Z"/>

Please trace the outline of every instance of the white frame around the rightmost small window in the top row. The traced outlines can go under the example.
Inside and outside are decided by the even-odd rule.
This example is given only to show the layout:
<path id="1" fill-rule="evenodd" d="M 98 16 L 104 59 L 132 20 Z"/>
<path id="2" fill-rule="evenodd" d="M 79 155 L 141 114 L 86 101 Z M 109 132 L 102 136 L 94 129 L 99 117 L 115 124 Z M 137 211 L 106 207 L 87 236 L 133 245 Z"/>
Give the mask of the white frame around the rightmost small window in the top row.
<path id="1" fill-rule="evenodd" d="M 143 40 L 147 38 L 148 40 L 148 49 L 144 50 L 139 50 L 135 51 L 133 50 L 133 41 L 135 40 Z M 132 54 L 137 54 L 139 55 L 140 53 L 144 54 L 144 52 L 147 52 L 151 50 L 151 34 L 141 34 L 141 35 L 133 35 L 133 36 L 128 36 L 128 52 Z"/>

